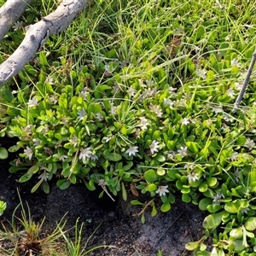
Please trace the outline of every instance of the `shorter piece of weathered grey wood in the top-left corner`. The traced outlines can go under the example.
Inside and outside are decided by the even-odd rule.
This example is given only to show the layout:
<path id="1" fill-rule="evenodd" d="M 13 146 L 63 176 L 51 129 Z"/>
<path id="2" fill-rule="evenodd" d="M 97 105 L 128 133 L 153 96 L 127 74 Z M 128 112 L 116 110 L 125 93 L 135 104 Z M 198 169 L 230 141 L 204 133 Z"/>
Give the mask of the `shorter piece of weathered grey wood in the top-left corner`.
<path id="1" fill-rule="evenodd" d="M 0 8 L 0 41 L 31 3 L 32 0 L 8 0 L 3 4 Z"/>

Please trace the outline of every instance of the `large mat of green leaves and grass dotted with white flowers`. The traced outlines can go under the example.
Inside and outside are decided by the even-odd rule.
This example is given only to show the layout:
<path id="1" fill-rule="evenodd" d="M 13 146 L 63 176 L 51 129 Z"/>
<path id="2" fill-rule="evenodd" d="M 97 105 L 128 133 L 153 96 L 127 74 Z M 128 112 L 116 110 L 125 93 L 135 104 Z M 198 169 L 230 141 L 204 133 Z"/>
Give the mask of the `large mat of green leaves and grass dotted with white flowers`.
<path id="1" fill-rule="evenodd" d="M 155 197 L 167 212 L 179 192 L 209 214 L 206 236 L 187 249 L 255 253 L 254 77 L 232 112 L 254 50 L 254 5 L 244 2 L 96 1 L 90 17 L 49 39 L 15 91 L 1 89 L 0 135 L 20 140 L 9 172 L 22 183 L 38 177 L 32 192 L 49 193 L 56 177 L 60 189 L 99 185 L 100 196 L 126 200 L 131 183 L 153 197 L 131 201 L 143 223 L 146 209 L 159 210 Z M 12 32 L 11 47 L 22 36 Z"/>

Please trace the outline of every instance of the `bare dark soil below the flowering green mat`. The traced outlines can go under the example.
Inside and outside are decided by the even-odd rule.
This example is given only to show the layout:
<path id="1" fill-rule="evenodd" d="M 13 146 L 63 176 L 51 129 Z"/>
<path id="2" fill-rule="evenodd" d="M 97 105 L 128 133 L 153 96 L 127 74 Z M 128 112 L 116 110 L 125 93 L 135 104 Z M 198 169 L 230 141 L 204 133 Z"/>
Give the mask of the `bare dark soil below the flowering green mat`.
<path id="1" fill-rule="evenodd" d="M 14 157 L 10 155 L 10 158 Z M 203 212 L 180 199 L 177 199 L 170 212 L 159 212 L 154 218 L 150 212 L 146 212 L 146 223 L 142 224 L 139 217 L 132 217 L 132 214 L 142 210 L 141 207 L 131 207 L 129 201 L 134 199 L 133 195 L 130 195 L 127 202 L 119 198 L 113 202 L 108 195 L 99 199 L 99 191 L 90 192 L 83 184 L 71 186 L 64 191 L 52 185 L 49 195 L 39 189 L 31 194 L 30 189 L 36 180 L 17 183 L 19 177 L 10 175 L 8 169 L 9 160 L 0 160 L 0 200 L 8 202 L 8 208 L 0 221 L 6 224 L 20 203 L 17 195 L 19 189 L 20 197 L 23 202 L 27 201 L 33 219 L 40 223 L 45 216 L 42 233 L 49 234 L 67 213 L 67 229 L 73 227 L 78 218 L 79 223 L 84 222 L 84 243 L 96 230 L 88 242 L 88 249 L 98 245 L 115 246 L 96 250 L 89 255 L 155 256 L 158 250 L 166 256 L 192 255 L 185 250 L 185 244 L 199 240 L 203 235 Z M 73 231 L 69 232 L 69 237 L 73 239 Z M 8 243 L 0 239 L 0 254 L 4 255 L 1 246 L 8 247 Z"/>

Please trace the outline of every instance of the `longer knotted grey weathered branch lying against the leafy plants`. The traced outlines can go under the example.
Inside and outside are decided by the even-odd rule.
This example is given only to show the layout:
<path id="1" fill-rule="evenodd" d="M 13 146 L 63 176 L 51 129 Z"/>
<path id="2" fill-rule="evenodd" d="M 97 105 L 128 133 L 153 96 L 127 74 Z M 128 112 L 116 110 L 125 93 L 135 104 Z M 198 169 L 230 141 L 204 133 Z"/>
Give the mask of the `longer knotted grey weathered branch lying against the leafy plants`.
<path id="1" fill-rule="evenodd" d="M 90 0 L 64 0 L 55 12 L 26 27 L 26 36 L 15 52 L 0 65 L 0 85 L 14 77 L 34 57 L 50 35 L 59 33 L 76 18 Z"/>

